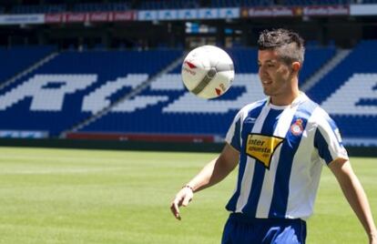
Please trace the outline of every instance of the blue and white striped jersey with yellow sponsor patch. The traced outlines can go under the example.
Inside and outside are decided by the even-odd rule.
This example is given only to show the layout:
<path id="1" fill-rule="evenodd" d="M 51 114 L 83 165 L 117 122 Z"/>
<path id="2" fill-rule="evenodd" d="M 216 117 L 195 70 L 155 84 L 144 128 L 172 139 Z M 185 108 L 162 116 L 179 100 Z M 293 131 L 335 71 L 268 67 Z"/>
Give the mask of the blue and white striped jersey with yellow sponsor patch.
<path id="1" fill-rule="evenodd" d="M 269 99 L 243 107 L 226 141 L 240 155 L 226 208 L 250 218 L 308 219 L 323 162 L 348 158 L 334 121 L 303 93 L 286 107 Z"/>

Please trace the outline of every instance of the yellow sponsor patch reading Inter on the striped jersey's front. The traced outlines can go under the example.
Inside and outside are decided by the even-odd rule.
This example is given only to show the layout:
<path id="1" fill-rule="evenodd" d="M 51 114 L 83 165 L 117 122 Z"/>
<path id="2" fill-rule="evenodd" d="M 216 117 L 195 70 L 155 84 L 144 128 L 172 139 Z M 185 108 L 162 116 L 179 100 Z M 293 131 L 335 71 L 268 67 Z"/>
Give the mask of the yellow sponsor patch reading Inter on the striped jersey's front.
<path id="1" fill-rule="evenodd" d="M 283 141 L 283 137 L 250 134 L 247 139 L 246 154 L 259 160 L 265 168 L 270 169 L 273 153 Z"/>

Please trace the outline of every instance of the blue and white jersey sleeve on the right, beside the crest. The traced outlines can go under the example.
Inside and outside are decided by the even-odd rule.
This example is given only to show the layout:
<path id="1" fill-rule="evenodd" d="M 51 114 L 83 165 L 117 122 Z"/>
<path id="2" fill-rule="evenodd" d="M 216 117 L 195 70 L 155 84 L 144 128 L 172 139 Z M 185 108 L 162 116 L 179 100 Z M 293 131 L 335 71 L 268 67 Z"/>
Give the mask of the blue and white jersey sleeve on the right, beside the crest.
<path id="1" fill-rule="evenodd" d="M 348 154 L 341 141 L 341 133 L 335 121 L 324 113 L 314 136 L 314 147 L 320 157 L 330 164 L 336 158 L 348 159 Z"/>

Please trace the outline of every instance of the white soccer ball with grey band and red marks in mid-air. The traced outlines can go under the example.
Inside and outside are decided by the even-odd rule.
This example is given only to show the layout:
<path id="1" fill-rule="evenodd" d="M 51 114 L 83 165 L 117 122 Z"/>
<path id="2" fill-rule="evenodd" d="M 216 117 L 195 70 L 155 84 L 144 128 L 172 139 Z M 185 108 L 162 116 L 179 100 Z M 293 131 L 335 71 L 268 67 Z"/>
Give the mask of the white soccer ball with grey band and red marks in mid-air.
<path id="1" fill-rule="evenodd" d="M 234 79 L 233 61 L 217 46 L 199 46 L 185 57 L 181 75 L 194 95 L 207 99 L 219 97 Z"/>

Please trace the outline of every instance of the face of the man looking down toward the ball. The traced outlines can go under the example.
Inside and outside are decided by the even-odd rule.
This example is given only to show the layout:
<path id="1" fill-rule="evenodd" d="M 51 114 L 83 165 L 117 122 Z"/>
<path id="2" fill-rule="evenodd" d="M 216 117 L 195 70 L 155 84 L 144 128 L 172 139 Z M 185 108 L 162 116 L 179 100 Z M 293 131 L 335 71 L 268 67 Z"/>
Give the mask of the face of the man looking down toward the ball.
<path id="1" fill-rule="evenodd" d="M 270 97 L 283 97 L 292 90 L 292 68 L 280 61 L 274 50 L 258 51 L 258 66 L 263 92 Z"/>

